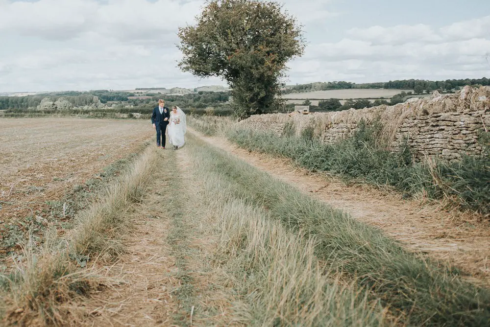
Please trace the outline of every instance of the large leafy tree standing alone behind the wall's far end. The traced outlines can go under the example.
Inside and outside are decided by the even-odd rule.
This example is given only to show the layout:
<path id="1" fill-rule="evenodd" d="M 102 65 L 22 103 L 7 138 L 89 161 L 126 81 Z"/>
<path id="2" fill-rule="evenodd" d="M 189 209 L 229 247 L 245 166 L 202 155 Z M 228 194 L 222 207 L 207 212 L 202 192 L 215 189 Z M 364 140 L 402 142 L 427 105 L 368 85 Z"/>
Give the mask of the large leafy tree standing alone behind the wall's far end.
<path id="1" fill-rule="evenodd" d="M 286 62 L 304 51 L 296 19 L 273 1 L 211 0 L 196 20 L 179 28 L 180 69 L 226 80 L 240 118 L 273 110 Z"/>

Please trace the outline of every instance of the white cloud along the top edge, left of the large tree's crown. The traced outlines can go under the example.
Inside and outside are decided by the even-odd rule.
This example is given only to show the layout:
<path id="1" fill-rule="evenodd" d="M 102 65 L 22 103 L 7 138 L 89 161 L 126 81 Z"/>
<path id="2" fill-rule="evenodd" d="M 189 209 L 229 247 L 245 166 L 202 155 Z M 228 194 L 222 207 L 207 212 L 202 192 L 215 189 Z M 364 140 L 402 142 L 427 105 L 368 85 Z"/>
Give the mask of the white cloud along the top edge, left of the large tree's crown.
<path id="1" fill-rule="evenodd" d="M 89 32 L 121 41 L 168 40 L 201 5 L 178 0 L 3 1 L 0 31 L 60 41 Z"/>

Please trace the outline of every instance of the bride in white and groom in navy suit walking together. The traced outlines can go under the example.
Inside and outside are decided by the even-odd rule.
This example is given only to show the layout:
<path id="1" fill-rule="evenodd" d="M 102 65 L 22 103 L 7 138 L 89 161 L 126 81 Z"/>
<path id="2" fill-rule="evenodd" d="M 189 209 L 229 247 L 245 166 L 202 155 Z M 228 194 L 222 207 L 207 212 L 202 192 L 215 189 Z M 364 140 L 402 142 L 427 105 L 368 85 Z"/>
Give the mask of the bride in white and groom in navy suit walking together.
<path id="1" fill-rule="evenodd" d="M 165 149 L 165 131 L 169 126 L 169 142 L 173 149 L 177 150 L 184 145 L 184 134 L 187 132 L 185 114 L 177 106 L 172 106 L 172 111 L 165 107 L 165 100 L 158 100 L 158 106 L 153 109 L 151 123 L 156 130 L 156 145 Z"/>

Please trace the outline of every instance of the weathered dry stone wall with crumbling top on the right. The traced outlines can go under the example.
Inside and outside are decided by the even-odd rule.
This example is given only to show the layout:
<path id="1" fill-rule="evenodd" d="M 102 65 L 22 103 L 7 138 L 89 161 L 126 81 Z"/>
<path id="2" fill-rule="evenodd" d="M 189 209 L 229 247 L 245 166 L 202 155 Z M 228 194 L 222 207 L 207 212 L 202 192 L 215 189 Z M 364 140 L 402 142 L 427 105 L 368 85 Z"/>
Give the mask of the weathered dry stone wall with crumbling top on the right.
<path id="1" fill-rule="evenodd" d="M 313 126 L 319 140 L 333 143 L 352 136 L 361 119 L 380 119 L 391 148 L 408 142 L 417 161 L 426 157 L 454 161 L 462 154 L 481 152 L 477 138 L 480 130 L 490 128 L 490 87 L 466 86 L 454 94 L 435 92 L 394 106 L 309 115 L 255 115 L 238 124 L 278 136 L 288 126 L 294 126 L 296 135 Z"/>

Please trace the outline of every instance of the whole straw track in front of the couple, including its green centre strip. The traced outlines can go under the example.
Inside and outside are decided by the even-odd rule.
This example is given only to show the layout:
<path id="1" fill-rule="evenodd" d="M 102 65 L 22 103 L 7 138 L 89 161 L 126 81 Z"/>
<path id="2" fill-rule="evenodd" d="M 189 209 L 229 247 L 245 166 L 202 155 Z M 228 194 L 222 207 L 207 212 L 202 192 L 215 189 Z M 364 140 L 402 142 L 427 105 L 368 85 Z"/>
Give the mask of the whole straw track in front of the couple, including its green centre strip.
<path id="1" fill-rule="evenodd" d="M 228 325 L 222 319 L 231 304 L 220 292 L 226 286 L 211 267 L 216 240 L 196 213 L 200 182 L 185 151 L 155 151 L 158 173 L 137 214 L 127 217 L 135 224 L 127 253 L 102 268 L 114 286 L 74 306 L 79 325 Z"/>

